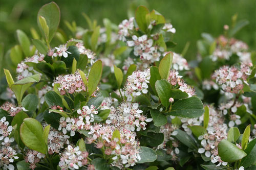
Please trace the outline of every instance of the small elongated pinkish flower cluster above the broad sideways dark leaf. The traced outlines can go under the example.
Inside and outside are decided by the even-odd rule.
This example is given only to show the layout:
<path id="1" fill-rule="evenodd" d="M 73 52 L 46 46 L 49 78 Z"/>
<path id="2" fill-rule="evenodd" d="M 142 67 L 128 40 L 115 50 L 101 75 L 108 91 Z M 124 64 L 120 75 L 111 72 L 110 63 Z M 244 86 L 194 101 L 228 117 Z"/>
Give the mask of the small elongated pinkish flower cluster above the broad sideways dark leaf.
<path id="1" fill-rule="evenodd" d="M 179 89 L 181 91 L 185 91 L 188 94 L 188 97 L 195 95 L 195 89 L 192 86 L 186 84 L 185 81 L 181 78 L 182 76 L 179 76 L 179 72 L 177 70 L 170 70 L 167 81 L 173 86 L 178 84 L 180 86 Z"/>

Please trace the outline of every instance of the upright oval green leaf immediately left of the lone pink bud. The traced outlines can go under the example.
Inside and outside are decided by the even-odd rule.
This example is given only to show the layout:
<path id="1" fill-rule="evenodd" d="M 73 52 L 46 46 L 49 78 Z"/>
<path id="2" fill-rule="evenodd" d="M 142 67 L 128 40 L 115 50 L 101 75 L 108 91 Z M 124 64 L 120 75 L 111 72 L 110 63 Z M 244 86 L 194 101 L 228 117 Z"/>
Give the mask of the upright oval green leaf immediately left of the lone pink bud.
<path id="1" fill-rule="evenodd" d="M 170 84 L 164 79 L 158 80 L 156 82 L 156 91 L 162 105 L 167 108 L 170 105 Z"/>

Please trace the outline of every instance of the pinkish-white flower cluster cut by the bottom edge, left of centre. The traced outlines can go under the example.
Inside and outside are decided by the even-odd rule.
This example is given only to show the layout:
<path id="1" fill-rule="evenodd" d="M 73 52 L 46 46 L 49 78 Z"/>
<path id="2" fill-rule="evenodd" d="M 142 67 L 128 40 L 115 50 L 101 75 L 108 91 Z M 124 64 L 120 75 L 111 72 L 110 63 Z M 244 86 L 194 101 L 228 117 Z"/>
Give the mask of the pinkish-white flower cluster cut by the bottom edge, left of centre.
<path id="1" fill-rule="evenodd" d="M 66 169 L 79 169 L 84 165 L 88 165 L 88 169 L 94 169 L 91 164 L 88 164 L 88 155 L 87 151 L 80 151 L 79 147 L 73 147 L 68 145 L 65 149 L 65 152 L 61 153 L 59 167 L 61 170 Z"/>

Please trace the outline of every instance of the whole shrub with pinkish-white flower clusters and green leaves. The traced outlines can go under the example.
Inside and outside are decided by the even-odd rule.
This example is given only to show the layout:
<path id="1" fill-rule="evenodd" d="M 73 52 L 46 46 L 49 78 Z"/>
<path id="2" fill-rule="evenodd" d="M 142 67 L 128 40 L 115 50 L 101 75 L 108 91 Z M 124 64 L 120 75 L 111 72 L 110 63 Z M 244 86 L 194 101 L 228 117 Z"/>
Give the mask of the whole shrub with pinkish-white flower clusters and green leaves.
<path id="1" fill-rule="evenodd" d="M 139 6 L 118 27 L 83 16 L 89 28 L 66 21 L 66 34 L 50 3 L 32 44 L 17 31 L 1 91 L 0 168 L 256 168 L 255 54 L 232 38 L 246 23 L 233 20 L 219 38 L 203 33 L 188 63 L 186 50 L 172 50 L 175 26 L 155 10 Z"/>

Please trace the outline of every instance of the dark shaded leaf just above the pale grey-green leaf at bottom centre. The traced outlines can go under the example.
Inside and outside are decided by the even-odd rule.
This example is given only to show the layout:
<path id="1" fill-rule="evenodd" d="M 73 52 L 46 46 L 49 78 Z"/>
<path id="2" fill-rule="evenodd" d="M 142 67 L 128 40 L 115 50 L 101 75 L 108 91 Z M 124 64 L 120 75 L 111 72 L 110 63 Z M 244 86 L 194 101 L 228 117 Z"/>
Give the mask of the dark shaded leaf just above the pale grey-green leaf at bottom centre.
<path id="1" fill-rule="evenodd" d="M 146 143 L 151 147 L 157 147 L 163 142 L 163 133 L 148 132 L 146 135 Z"/>

